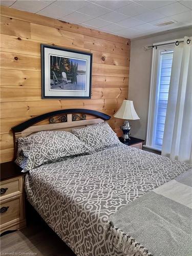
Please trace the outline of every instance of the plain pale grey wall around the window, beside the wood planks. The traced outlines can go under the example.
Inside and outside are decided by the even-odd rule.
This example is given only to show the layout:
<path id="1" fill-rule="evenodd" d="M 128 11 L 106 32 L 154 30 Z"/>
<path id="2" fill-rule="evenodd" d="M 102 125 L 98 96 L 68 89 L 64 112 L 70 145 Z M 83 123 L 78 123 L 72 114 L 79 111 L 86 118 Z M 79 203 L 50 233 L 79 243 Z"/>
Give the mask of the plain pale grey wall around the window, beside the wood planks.
<path id="1" fill-rule="evenodd" d="M 192 29 L 187 28 L 131 41 L 129 99 L 133 100 L 135 110 L 140 117 L 140 120 L 131 122 L 131 136 L 146 139 L 153 50 L 144 51 L 143 46 L 150 46 L 155 42 L 175 40 L 191 35 Z"/>

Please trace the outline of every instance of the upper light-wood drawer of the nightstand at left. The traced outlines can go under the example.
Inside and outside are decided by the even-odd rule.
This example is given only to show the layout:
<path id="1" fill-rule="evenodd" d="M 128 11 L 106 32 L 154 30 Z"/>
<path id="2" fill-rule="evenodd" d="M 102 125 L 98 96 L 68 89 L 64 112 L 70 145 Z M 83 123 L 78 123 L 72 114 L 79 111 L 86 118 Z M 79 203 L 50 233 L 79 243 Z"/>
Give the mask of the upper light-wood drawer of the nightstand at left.
<path id="1" fill-rule="evenodd" d="M 1 181 L 1 200 L 21 193 L 23 193 L 23 176 Z"/>

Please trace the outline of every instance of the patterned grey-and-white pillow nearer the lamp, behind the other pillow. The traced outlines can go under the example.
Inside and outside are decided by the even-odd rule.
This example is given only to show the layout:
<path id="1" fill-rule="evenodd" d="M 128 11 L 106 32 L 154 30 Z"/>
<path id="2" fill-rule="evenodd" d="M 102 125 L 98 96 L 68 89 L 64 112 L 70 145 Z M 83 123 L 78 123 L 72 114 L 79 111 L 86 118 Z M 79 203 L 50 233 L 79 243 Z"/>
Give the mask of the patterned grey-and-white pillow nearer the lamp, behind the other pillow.
<path id="1" fill-rule="evenodd" d="M 116 133 L 106 122 L 73 129 L 72 133 L 86 143 L 92 149 L 92 153 L 121 144 Z"/>

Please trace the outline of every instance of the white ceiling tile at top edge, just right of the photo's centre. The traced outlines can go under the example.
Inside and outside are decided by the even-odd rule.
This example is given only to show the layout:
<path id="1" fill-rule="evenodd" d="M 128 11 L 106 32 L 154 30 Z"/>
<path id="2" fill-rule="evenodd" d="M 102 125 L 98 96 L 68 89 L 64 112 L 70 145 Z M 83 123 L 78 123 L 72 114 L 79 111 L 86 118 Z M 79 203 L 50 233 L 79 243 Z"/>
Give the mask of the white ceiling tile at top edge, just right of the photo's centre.
<path id="1" fill-rule="evenodd" d="M 97 4 L 97 5 L 100 5 L 100 6 L 103 6 L 105 8 L 108 8 L 108 9 L 111 9 L 111 10 L 116 10 L 120 7 L 123 7 L 125 5 L 130 5 L 131 3 L 133 3 L 132 1 L 129 1 L 129 0 L 96 0 L 94 1 L 94 4 Z"/>

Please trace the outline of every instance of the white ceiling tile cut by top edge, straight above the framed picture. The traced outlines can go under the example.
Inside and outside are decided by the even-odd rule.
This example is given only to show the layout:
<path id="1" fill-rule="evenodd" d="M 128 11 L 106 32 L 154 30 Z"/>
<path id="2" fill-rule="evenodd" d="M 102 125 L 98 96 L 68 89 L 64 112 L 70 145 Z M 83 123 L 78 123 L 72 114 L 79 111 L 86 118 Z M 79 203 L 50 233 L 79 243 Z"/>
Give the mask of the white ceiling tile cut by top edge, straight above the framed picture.
<path id="1" fill-rule="evenodd" d="M 78 9 L 89 4 L 89 2 L 84 0 L 57 0 L 54 2 L 54 5 L 57 5 L 59 8 L 72 9 L 73 11 L 77 11 Z"/>

